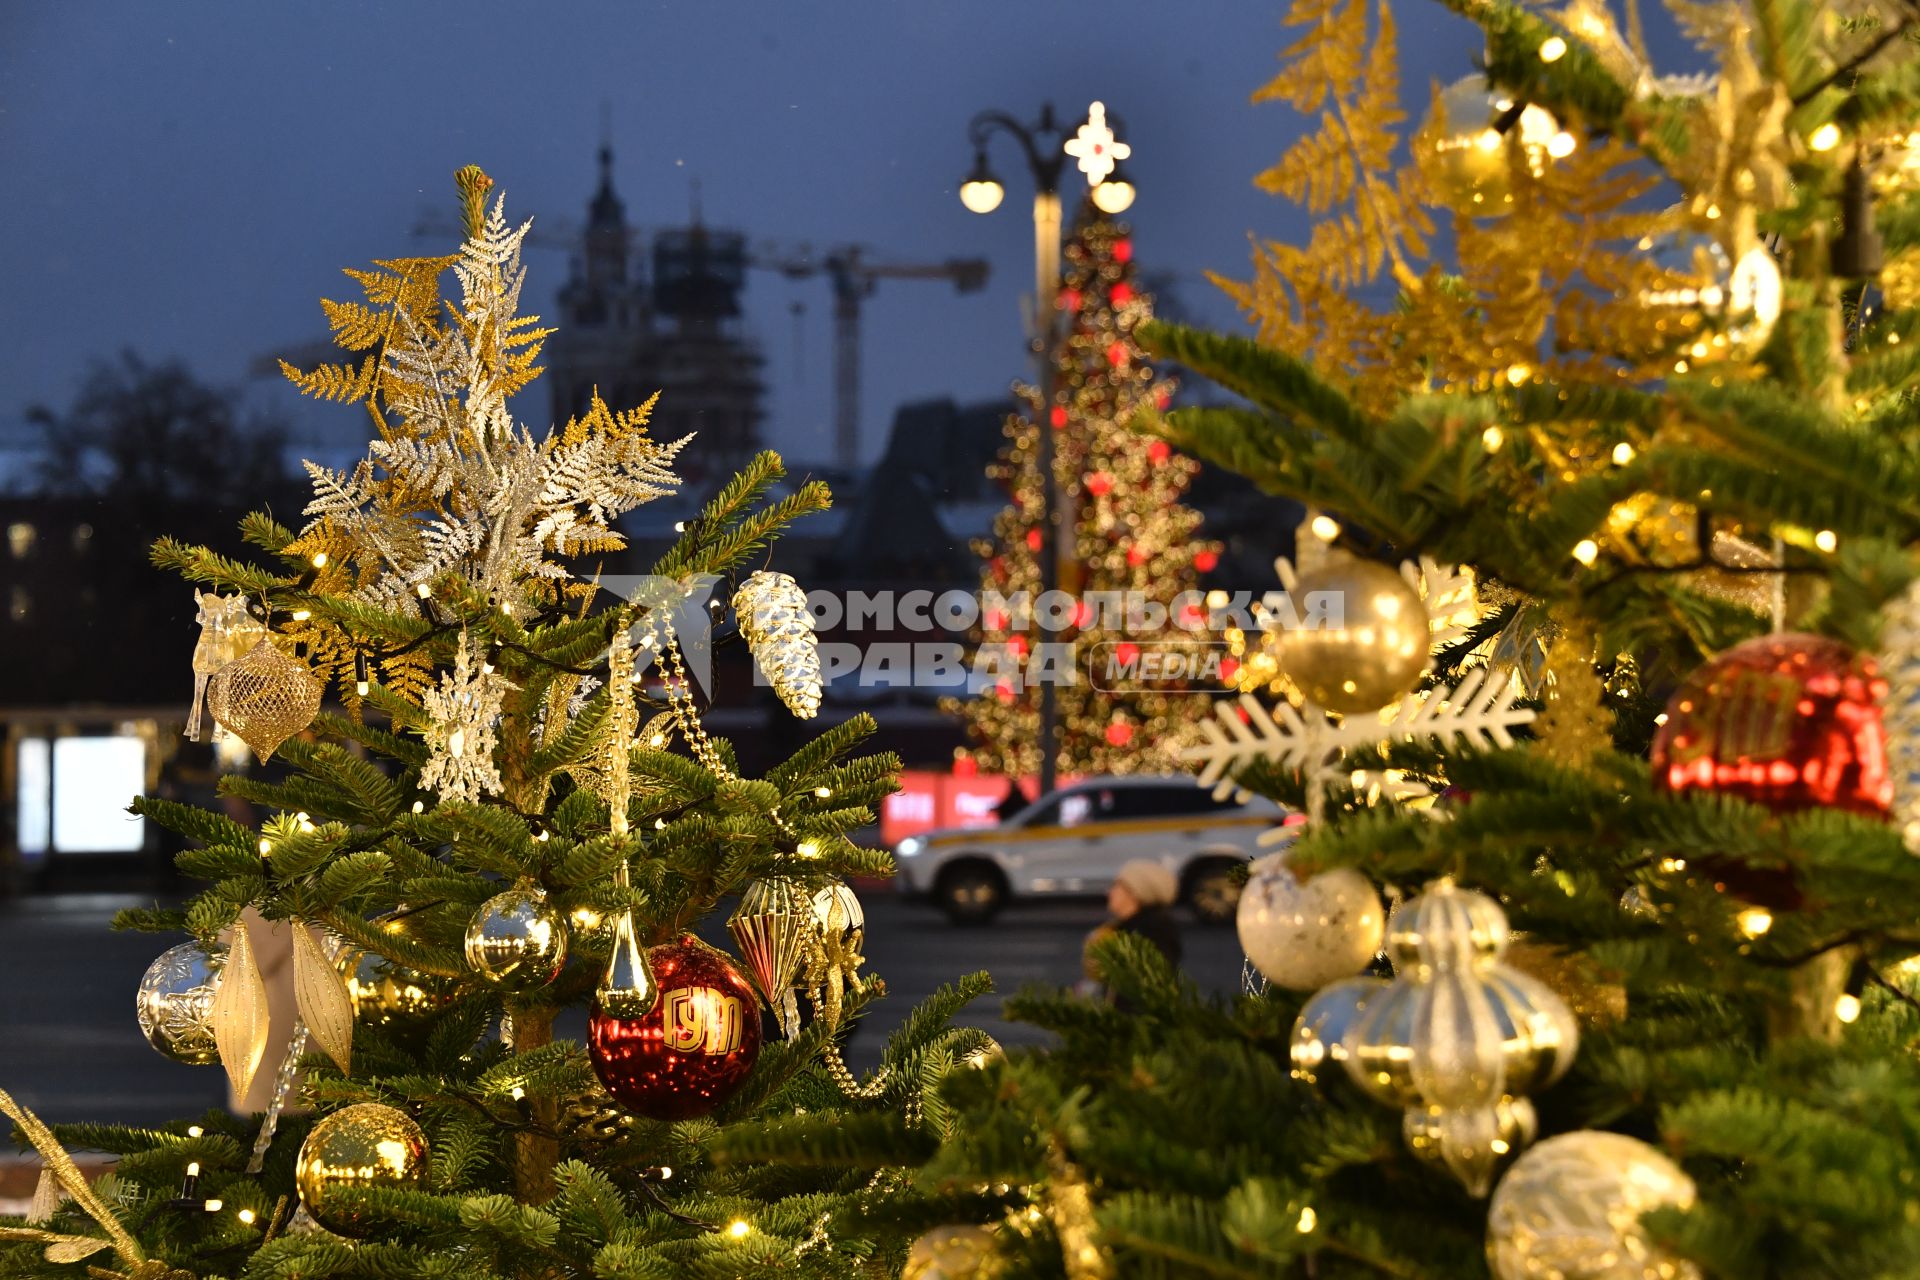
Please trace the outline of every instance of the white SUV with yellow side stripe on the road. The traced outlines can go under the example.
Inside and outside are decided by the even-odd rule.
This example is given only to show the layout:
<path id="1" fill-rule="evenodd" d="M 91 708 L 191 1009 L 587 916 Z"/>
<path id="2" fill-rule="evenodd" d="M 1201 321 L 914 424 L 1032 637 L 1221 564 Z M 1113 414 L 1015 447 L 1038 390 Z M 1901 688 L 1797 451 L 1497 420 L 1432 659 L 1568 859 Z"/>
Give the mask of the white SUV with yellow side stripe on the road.
<path id="1" fill-rule="evenodd" d="M 1215 800 L 1192 777 L 1089 777 L 1041 796 L 998 827 L 910 835 L 893 848 L 902 894 L 931 894 L 954 923 L 993 919 L 1010 898 L 1104 894 L 1121 864 L 1146 858 L 1179 877 L 1210 923 L 1233 919 L 1233 867 L 1286 819 L 1271 800 Z"/>

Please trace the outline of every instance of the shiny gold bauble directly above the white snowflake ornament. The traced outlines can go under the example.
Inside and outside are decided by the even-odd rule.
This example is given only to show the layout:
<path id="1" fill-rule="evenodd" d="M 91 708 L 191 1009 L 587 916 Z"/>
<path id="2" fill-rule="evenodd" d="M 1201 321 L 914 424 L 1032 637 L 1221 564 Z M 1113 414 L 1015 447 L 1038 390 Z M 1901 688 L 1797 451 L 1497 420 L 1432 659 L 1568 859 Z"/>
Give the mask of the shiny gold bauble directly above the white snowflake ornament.
<path id="1" fill-rule="evenodd" d="M 1427 670 L 1427 606 L 1398 570 L 1352 557 L 1294 583 L 1300 626 L 1281 637 L 1281 670 L 1315 706 L 1377 712 Z"/>

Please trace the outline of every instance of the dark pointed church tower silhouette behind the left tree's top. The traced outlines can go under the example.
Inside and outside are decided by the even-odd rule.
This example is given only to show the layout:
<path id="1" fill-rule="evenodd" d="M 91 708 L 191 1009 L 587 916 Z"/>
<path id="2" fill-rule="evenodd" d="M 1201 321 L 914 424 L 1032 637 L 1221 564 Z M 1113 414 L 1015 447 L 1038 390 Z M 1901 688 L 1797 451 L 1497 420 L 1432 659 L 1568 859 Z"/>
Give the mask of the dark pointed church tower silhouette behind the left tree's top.
<path id="1" fill-rule="evenodd" d="M 553 420 L 580 415 L 593 390 L 612 409 L 632 409 L 657 390 L 649 365 L 653 311 L 626 205 L 612 190 L 612 148 L 599 150 L 599 190 L 572 274 L 561 288 L 559 330 L 547 345 Z"/>

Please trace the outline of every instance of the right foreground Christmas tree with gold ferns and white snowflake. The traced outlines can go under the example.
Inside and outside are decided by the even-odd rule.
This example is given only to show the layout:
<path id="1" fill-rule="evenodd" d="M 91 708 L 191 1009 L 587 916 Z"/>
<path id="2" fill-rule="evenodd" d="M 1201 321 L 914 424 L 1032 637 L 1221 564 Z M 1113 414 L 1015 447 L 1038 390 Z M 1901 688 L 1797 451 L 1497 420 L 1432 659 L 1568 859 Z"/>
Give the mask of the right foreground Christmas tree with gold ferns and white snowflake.
<path id="1" fill-rule="evenodd" d="M 1110 940 L 1131 1011 L 1012 1002 L 1060 1046 L 929 1169 L 1075 1207 L 956 1205 L 1004 1274 L 1910 1276 L 1914 12 L 1674 0 L 1667 77 L 1632 6 L 1453 8 L 1402 132 L 1388 8 L 1292 6 L 1311 236 L 1256 338 L 1142 334 L 1244 399 L 1154 430 L 1311 512 L 1187 748 L 1313 814 L 1258 971 Z"/>

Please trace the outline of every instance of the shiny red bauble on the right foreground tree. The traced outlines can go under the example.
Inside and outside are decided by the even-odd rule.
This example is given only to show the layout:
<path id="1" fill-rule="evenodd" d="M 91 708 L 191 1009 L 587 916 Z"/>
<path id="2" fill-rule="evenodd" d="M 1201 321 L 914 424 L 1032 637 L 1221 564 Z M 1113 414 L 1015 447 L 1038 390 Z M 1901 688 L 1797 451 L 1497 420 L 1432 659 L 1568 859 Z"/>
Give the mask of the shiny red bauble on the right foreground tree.
<path id="1" fill-rule="evenodd" d="M 1893 804 L 1887 681 L 1872 658 L 1818 635 L 1763 635 L 1693 672 L 1653 739 L 1653 781 L 1780 814 Z"/>

